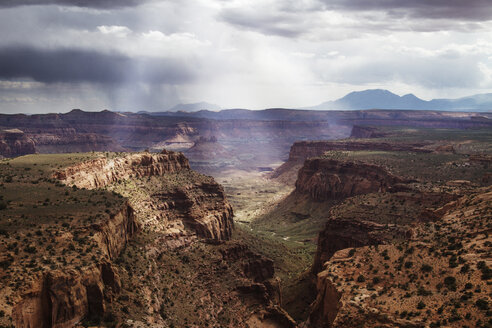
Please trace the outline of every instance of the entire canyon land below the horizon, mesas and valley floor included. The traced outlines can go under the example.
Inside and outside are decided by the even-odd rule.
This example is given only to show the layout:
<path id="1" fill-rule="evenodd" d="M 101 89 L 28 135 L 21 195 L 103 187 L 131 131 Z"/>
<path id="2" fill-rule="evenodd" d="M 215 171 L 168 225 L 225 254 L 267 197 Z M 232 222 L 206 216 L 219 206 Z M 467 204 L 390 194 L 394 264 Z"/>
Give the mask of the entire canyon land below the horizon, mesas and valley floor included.
<path id="1" fill-rule="evenodd" d="M 488 114 L 287 114 L 0 118 L 0 327 L 488 327 Z"/>

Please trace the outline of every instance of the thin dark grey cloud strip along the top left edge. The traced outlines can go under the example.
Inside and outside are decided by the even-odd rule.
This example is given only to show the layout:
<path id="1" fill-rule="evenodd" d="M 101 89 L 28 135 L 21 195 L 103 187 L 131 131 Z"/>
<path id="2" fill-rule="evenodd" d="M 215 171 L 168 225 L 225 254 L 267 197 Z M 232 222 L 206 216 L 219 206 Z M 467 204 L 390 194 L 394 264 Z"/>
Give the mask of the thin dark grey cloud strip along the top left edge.
<path id="1" fill-rule="evenodd" d="M 2 0 L 0 7 L 18 7 L 28 5 L 60 5 L 89 8 L 135 7 L 151 0 Z"/>

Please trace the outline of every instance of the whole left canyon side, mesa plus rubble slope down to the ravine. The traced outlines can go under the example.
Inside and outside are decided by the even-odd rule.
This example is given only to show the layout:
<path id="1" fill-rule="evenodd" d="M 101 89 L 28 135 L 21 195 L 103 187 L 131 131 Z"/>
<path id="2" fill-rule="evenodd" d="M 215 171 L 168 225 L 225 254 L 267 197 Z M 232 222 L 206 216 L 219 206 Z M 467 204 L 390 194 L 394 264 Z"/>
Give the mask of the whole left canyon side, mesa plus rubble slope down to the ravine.
<path id="1" fill-rule="evenodd" d="M 2 289 L 0 295 L 1 311 L 6 315 L 0 318 L 2 324 L 7 324 L 4 320 L 11 318 L 16 327 L 73 327 L 96 322 L 106 325 L 115 320 L 138 326 L 138 316 L 134 313 L 130 319 L 121 317 L 129 316 L 126 310 L 129 307 L 144 310 L 143 322 L 153 325 L 179 322 L 183 318 L 163 314 L 164 302 L 169 296 L 161 294 L 154 299 L 156 295 L 139 291 L 155 289 L 156 284 L 165 284 L 170 278 L 165 266 L 156 266 L 156 263 L 166 257 L 169 263 L 179 259 L 173 252 L 196 256 L 196 248 L 199 248 L 203 256 L 191 261 L 192 264 L 190 260 L 184 262 L 183 273 L 176 269 L 177 276 L 172 284 L 181 279 L 188 281 L 188 273 L 185 275 L 184 271 L 199 264 L 198 261 L 207 263 L 192 271 L 206 268 L 195 281 L 203 284 L 200 290 L 214 294 L 219 302 L 227 299 L 238 303 L 225 312 L 216 310 L 217 314 L 227 317 L 220 320 L 234 318 L 230 325 L 235 327 L 246 325 L 250 320 L 258 324 L 268 322 L 269 327 L 280 327 L 279 322 L 282 326 L 286 323 L 294 326 L 278 306 L 280 291 L 274 279 L 273 262 L 240 241 L 230 240 L 233 212 L 222 187 L 213 178 L 192 171 L 181 153 L 114 153 L 109 157 L 92 153 L 77 158 L 64 156 L 63 165 L 59 164 L 60 157 L 42 155 L 42 159 L 38 159 L 37 156 L 2 163 L 3 174 L 8 171 L 8 176 L 19 179 L 7 180 L 10 182 L 3 185 L 6 190 L 2 193 L 8 208 L 2 213 L 5 216 L 1 222 L 3 270 L 0 279 L 9 286 Z M 33 176 L 17 173 L 25 172 L 26 168 L 31 170 L 31 163 L 43 166 L 38 178 L 42 186 L 29 182 Z M 43 201 L 32 197 L 28 187 L 46 190 L 38 197 L 53 193 L 72 197 L 56 196 L 54 202 L 48 198 Z M 22 194 L 16 194 L 19 191 Z M 52 214 L 38 225 L 24 225 L 26 215 L 39 211 L 38 202 L 43 202 L 41 213 Z M 16 248 L 16 240 L 21 238 L 29 240 L 20 251 L 24 257 L 19 256 Z M 138 265 L 127 266 L 128 252 L 132 252 L 133 247 L 144 247 L 147 254 L 134 259 Z M 224 263 L 227 263 L 225 267 Z M 133 271 L 142 265 L 145 270 L 152 268 L 151 281 L 145 278 L 149 272 Z M 215 267 L 214 275 L 209 271 L 211 267 Z M 142 274 L 142 279 L 136 281 Z M 218 274 L 227 276 L 232 286 L 215 281 Z M 139 281 L 143 283 L 139 289 L 130 288 Z M 210 285 L 211 282 L 214 285 Z M 164 290 L 162 285 L 159 287 Z M 180 288 L 189 287 L 188 282 Z M 222 293 L 217 293 L 219 290 Z M 136 295 L 130 298 L 128 293 Z M 148 304 L 145 307 L 128 305 L 137 298 L 142 304 Z M 195 301 L 201 302 L 200 299 Z M 179 309 L 178 300 L 174 302 L 172 309 Z M 187 300 L 186 304 L 193 302 Z M 125 310 L 122 312 L 121 308 Z M 208 310 L 200 311 L 204 314 L 200 320 L 210 320 Z M 236 315 L 229 314 L 231 311 L 243 311 L 239 321 Z"/>

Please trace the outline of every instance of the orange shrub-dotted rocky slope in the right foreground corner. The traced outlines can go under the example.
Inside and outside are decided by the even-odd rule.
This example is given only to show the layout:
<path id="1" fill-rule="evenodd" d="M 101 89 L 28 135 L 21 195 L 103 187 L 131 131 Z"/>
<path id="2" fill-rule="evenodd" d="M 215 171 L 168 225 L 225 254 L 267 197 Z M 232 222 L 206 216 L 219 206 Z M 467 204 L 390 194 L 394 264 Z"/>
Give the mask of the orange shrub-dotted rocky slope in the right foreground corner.
<path id="1" fill-rule="evenodd" d="M 480 326 L 492 276 L 491 197 L 489 187 L 445 204 L 404 242 L 334 253 L 318 274 L 310 326 Z"/>

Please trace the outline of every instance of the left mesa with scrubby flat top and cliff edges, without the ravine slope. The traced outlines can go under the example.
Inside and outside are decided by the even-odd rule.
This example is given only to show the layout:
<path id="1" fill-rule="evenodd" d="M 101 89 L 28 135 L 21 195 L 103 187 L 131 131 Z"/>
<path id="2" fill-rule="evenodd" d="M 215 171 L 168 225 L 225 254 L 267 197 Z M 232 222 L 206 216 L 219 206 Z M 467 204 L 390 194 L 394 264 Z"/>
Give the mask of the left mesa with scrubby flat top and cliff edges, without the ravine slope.
<path id="1" fill-rule="evenodd" d="M 142 247 L 160 252 L 196 247 L 198 237 L 213 243 L 230 239 L 233 213 L 223 188 L 190 170 L 181 153 L 100 156 L 28 156 L 2 163 L 2 173 L 13 178 L 0 195 L 8 201 L 8 214 L 0 217 L 0 281 L 9 286 L 0 291 L 8 300 L 0 302 L 0 325 L 9 318 L 16 327 L 30 328 L 111 319 L 115 296 L 129 281 L 122 283 L 126 267 L 118 258 L 140 235 Z M 273 277 L 270 260 L 241 255 L 241 279 L 263 284 Z M 211 261 L 207 256 L 202 259 Z M 264 297 L 278 299 L 274 285 L 266 285 L 271 290 Z"/>

